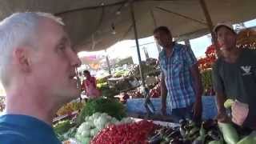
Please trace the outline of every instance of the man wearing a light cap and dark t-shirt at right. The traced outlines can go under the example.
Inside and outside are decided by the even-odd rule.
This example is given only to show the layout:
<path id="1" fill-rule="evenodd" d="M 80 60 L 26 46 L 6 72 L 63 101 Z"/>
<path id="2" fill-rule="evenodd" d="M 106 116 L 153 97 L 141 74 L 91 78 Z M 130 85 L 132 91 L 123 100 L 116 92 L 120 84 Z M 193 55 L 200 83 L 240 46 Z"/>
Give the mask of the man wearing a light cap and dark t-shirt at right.
<path id="1" fill-rule="evenodd" d="M 228 121 L 223 103 L 226 98 L 232 98 L 236 100 L 232 106 L 232 121 L 255 129 L 256 52 L 248 48 L 238 49 L 237 34 L 229 23 L 219 23 L 214 32 L 222 55 L 213 66 L 218 121 Z"/>

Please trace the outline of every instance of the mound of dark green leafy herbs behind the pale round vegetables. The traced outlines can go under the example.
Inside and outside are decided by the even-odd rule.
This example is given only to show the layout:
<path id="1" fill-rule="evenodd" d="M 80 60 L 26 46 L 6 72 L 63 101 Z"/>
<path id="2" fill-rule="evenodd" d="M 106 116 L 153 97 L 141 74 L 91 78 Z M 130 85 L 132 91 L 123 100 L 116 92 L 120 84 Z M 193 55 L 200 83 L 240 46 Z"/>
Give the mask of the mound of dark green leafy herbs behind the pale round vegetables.
<path id="1" fill-rule="evenodd" d="M 96 112 L 109 114 L 111 117 L 121 120 L 126 116 L 125 107 L 121 102 L 110 98 L 90 99 L 86 102 L 77 118 L 77 123 L 84 122 L 86 116 L 90 116 Z"/>

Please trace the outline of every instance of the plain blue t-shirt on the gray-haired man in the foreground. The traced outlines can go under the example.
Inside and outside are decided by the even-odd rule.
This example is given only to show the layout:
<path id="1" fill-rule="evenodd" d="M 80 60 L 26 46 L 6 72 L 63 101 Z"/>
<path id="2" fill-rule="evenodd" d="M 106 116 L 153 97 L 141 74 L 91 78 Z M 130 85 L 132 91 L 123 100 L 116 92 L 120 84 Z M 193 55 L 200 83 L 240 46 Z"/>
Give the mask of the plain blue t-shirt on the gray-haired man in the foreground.
<path id="1" fill-rule="evenodd" d="M 1 144 L 60 144 L 54 129 L 46 122 L 21 114 L 0 116 Z"/>

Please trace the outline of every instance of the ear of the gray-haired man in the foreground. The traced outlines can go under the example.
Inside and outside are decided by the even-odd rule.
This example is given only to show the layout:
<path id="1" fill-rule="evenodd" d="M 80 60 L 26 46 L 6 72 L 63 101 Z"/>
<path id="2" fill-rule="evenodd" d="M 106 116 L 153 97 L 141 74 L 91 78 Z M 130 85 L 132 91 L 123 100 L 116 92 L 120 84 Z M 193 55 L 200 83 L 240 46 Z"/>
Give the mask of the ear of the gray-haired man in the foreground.
<path id="1" fill-rule="evenodd" d="M 27 50 L 25 48 L 17 48 L 14 50 L 14 59 L 18 68 L 25 73 L 30 72 L 30 62 Z"/>

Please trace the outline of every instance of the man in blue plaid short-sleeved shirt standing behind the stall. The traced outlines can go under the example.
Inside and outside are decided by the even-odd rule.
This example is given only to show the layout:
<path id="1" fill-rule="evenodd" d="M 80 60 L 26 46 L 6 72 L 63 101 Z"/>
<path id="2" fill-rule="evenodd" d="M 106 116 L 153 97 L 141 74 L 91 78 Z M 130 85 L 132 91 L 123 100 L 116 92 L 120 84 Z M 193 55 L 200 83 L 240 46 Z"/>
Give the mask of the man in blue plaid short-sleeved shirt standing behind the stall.
<path id="1" fill-rule="evenodd" d="M 202 116 L 202 82 L 197 59 L 189 46 L 173 42 L 170 30 L 159 26 L 154 38 L 163 50 L 159 54 L 162 70 L 162 114 L 166 103 L 175 118 L 200 120 Z"/>

